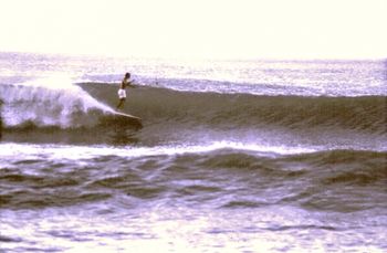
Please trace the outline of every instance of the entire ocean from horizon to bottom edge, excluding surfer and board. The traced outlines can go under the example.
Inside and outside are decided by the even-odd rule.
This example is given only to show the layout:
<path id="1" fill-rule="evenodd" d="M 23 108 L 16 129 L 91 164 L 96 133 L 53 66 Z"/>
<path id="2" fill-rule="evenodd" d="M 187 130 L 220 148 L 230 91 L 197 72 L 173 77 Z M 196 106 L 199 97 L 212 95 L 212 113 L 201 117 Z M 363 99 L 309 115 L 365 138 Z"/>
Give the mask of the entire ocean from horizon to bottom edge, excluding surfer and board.
<path id="1" fill-rule="evenodd" d="M 118 102 L 144 127 L 104 115 Z M 0 252 L 387 252 L 387 62 L 0 53 Z"/>

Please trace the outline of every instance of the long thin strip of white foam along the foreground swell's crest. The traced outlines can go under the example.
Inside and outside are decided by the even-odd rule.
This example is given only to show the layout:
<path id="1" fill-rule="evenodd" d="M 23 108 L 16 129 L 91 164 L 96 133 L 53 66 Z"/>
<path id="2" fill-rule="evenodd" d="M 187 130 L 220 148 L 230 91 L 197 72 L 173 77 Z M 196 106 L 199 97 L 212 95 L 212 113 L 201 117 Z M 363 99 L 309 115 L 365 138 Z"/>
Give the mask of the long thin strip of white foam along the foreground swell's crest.
<path id="1" fill-rule="evenodd" d="M 258 144 L 239 144 L 228 141 L 217 141 L 210 145 L 179 145 L 179 146 L 158 146 L 158 147 L 122 147 L 112 146 L 70 146 L 70 145 L 23 145 L 23 144 L 0 144 L 1 157 L 19 157 L 24 158 L 45 157 L 59 160 L 82 160 L 92 159 L 101 156 L 117 157 L 148 157 L 148 156 L 179 156 L 186 154 L 206 154 L 222 149 L 232 149 L 240 151 L 254 152 L 265 157 L 276 157 L 281 155 L 308 154 L 317 151 L 313 148 L 301 147 L 266 147 Z"/>

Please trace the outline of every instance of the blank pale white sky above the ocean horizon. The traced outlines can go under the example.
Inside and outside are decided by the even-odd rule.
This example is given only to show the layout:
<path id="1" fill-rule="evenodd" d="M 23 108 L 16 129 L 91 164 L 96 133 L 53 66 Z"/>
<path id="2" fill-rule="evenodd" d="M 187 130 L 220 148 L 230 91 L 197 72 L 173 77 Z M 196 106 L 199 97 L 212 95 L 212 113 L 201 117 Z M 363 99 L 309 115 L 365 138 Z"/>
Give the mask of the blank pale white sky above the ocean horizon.
<path id="1" fill-rule="evenodd" d="M 387 0 L 0 0 L 0 51 L 387 57 Z"/>

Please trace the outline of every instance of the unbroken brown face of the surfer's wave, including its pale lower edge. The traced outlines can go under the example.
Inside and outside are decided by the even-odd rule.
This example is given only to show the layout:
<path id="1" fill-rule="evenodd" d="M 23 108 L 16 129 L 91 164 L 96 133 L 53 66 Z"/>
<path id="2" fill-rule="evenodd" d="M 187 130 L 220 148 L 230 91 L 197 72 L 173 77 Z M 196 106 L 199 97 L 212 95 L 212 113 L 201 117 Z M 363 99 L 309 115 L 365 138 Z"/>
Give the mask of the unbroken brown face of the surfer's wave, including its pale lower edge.
<path id="1" fill-rule="evenodd" d="M 106 104 L 116 99 L 115 85 L 81 86 Z M 174 128 L 192 138 L 219 135 L 218 140 L 234 137 L 232 140 L 250 141 L 263 136 L 276 139 L 289 134 L 287 139 L 305 141 L 326 138 L 326 143 L 339 143 L 346 138 L 377 144 L 386 140 L 387 133 L 384 96 L 261 96 L 140 86 L 129 91 L 126 106 L 130 114 L 144 119 L 148 136 L 156 131 L 158 136 L 172 136 L 168 129 Z"/>

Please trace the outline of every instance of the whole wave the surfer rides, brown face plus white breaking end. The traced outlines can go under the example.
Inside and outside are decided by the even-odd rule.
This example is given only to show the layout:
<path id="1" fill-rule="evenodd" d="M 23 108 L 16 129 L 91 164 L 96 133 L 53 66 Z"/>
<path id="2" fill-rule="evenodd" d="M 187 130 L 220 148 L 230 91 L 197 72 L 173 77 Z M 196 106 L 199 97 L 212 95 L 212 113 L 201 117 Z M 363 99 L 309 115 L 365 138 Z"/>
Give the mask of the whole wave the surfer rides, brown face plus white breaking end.
<path id="1" fill-rule="evenodd" d="M 140 141 L 154 146 L 226 140 L 284 145 L 286 140 L 291 146 L 386 147 L 385 96 L 269 96 L 137 86 L 128 89 L 124 110 L 142 117 L 144 128 L 127 134 L 112 122 L 102 122 L 114 112 L 117 84 L 60 84 L 55 78 L 0 85 L 3 128 L 13 133 L 11 139 L 28 141 L 30 131 L 25 130 L 34 130 L 33 137 L 28 135 L 33 143 Z"/>

